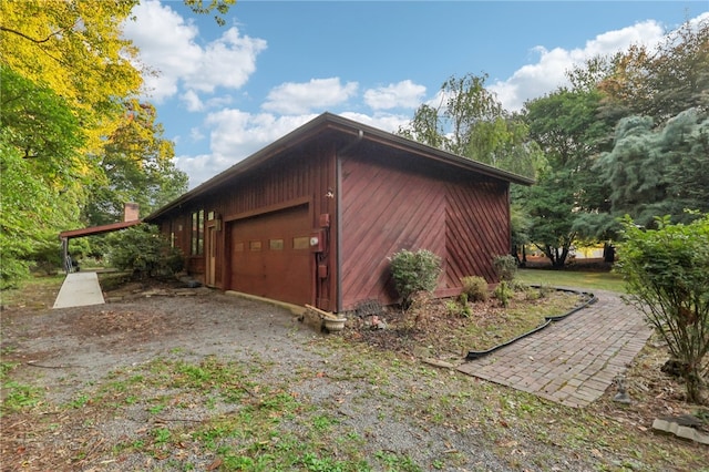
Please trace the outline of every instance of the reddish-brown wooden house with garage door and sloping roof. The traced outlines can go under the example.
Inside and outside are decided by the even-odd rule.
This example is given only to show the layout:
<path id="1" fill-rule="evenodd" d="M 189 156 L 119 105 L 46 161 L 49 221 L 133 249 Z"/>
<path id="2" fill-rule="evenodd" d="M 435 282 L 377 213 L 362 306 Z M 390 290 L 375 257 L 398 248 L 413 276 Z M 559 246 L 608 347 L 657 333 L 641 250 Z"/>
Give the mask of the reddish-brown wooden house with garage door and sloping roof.
<path id="1" fill-rule="evenodd" d="M 438 296 L 496 280 L 510 184 L 532 181 L 323 113 L 156 211 L 205 285 L 329 311 L 398 300 L 400 249 L 443 259 Z"/>

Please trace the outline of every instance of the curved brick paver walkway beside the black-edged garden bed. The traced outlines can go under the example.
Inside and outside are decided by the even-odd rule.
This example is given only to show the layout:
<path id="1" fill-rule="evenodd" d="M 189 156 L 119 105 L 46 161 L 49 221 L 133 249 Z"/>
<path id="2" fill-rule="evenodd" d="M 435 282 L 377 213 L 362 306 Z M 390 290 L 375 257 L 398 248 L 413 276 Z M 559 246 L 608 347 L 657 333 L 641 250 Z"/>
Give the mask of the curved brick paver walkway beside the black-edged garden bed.
<path id="1" fill-rule="evenodd" d="M 609 291 L 546 329 L 458 369 L 569 407 L 598 399 L 650 336 L 643 315 Z"/>

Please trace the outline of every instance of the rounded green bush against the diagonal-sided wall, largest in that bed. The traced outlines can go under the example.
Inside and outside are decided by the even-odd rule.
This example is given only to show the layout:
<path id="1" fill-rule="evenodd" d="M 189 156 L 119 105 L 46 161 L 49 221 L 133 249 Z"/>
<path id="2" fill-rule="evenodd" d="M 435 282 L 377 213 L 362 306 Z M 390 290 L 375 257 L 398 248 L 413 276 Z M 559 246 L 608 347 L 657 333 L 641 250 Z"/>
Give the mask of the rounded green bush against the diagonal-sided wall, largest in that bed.
<path id="1" fill-rule="evenodd" d="M 390 259 L 391 276 L 404 308 L 418 291 L 433 291 L 441 275 L 441 258 L 428 249 L 412 253 L 402 249 Z"/>

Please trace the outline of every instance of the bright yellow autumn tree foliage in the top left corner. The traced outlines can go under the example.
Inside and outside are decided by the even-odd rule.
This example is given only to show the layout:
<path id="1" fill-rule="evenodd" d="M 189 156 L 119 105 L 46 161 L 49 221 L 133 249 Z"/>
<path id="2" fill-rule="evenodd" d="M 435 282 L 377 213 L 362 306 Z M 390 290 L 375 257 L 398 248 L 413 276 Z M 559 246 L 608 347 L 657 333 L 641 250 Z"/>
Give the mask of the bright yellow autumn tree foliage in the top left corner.
<path id="1" fill-rule="evenodd" d="M 0 2 L 2 62 L 63 98 L 97 152 L 120 124 L 121 100 L 138 92 L 135 48 L 121 37 L 137 0 Z"/>

